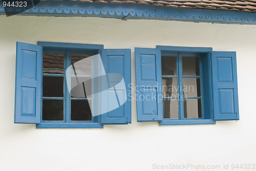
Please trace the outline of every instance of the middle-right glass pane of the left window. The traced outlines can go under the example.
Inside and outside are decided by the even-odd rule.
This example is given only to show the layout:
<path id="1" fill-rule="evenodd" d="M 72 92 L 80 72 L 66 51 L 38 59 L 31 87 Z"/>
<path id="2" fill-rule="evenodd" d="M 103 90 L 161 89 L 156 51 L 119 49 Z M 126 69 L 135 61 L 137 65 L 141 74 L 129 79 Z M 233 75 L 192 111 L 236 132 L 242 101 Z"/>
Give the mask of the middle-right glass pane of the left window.
<path id="1" fill-rule="evenodd" d="M 71 97 L 92 98 L 91 77 L 71 77 Z"/>

